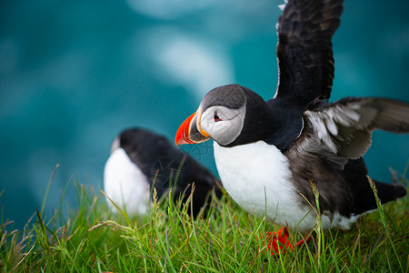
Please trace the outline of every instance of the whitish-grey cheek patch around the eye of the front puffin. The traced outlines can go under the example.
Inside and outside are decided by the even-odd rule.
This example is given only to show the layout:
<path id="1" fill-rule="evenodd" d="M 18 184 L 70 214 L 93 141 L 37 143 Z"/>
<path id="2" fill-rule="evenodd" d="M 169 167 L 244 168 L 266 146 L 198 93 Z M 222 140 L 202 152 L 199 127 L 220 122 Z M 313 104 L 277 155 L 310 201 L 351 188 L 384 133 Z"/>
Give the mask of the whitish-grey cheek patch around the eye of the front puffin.
<path id="1" fill-rule="evenodd" d="M 214 113 L 221 120 L 214 120 Z M 245 106 L 230 109 L 224 106 L 211 106 L 201 118 L 202 129 L 218 144 L 228 145 L 240 135 L 244 126 Z"/>

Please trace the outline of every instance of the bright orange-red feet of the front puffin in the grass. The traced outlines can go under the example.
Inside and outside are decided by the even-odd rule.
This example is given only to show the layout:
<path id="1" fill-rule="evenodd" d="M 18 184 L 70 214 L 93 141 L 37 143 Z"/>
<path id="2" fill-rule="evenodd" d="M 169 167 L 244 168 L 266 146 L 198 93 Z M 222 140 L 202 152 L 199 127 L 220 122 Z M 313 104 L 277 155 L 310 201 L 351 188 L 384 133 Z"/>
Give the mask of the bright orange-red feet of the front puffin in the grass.
<path id="1" fill-rule="evenodd" d="M 288 240 L 288 228 L 280 227 L 278 231 L 265 232 L 267 238 L 267 248 L 271 251 L 271 255 L 278 255 L 278 253 L 286 253 L 294 250 L 293 244 Z M 311 240 L 311 236 L 307 236 L 295 244 L 296 248 L 300 248 L 304 243 Z M 280 249 L 280 250 L 279 250 Z"/>

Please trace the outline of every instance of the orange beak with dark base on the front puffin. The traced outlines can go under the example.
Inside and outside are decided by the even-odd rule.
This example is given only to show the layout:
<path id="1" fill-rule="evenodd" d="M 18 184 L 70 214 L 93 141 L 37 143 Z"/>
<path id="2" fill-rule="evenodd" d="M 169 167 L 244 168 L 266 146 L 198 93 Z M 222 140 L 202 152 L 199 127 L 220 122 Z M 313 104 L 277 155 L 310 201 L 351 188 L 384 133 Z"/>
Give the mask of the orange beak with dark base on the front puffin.
<path id="1" fill-rule="evenodd" d="M 197 114 L 199 113 L 199 114 Z M 196 125 L 197 116 L 201 116 L 201 111 L 197 111 L 195 114 L 186 118 L 186 120 L 179 126 L 175 136 L 175 144 L 195 144 L 201 143 L 209 139 L 209 136 L 205 131 L 200 132 Z"/>

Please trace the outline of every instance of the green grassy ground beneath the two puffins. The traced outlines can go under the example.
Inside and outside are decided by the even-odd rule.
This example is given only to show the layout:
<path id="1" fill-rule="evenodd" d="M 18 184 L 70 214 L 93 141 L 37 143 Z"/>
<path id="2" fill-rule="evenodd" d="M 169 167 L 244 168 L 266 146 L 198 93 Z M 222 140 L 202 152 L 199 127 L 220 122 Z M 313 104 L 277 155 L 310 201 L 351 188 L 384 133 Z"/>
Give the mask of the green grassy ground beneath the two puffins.
<path id="1" fill-rule="evenodd" d="M 404 181 L 407 185 L 407 181 Z M 401 182 L 403 183 L 403 181 Z M 68 186 L 72 187 L 72 186 Z M 192 219 L 167 199 L 145 217 L 113 215 L 105 197 L 75 185 L 79 209 L 24 230 L 1 228 L 1 272 L 408 272 L 408 197 L 384 206 L 350 231 L 322 232 L 302 248 L 272 256 L 265 231 L 278 227 L 227 199 Z M 63 198 L 62 198 L 63 199 Z M 43 206 L 44 207 L 44 206 Z M 290 234 L 295 242 L 302 236 Z"/>

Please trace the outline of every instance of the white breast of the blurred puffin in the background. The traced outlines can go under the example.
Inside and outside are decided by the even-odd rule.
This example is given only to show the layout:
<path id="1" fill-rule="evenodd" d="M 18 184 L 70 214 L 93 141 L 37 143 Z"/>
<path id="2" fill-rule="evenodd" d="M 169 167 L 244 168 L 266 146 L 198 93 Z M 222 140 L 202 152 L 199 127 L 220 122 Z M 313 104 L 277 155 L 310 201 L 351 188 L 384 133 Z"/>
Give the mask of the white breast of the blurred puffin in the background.
<path id="1" fill-rule="evenodd" d="M 145 214 L 150 200 L 149 182 L 123 148 L 116 148 L 106 161 L 104 191 L 117 206 L 125 208 L 129 216 Z M 111 201 L 107 202 L 115 211 Z"/>

